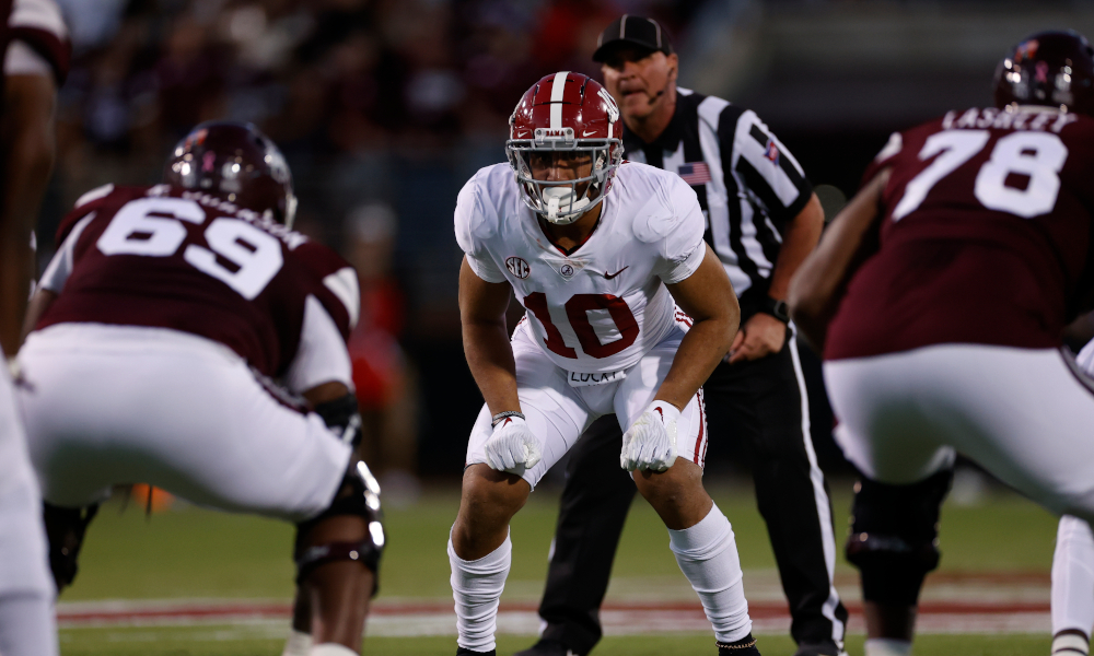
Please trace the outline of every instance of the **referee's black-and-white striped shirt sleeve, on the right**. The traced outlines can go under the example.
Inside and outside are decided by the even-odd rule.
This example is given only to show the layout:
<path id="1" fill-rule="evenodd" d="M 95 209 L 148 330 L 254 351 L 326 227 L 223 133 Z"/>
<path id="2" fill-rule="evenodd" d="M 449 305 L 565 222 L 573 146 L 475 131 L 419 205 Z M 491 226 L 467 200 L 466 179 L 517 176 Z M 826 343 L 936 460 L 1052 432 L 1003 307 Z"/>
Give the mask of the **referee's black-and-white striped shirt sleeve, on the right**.
<path id="1" fill-rule="evenodd" d="M 722 149 L 723 157 L 732 153 L 733 166 L 744 179 L 748 191 L 764 203 L 777 222 L 798 215 L 813 196 L 813 185 L 790 150 L 768 129 L 755 112 L 741 115 L 734 129 L 719 126 L 719 132 L 733 134 L 732 150 Z"/>

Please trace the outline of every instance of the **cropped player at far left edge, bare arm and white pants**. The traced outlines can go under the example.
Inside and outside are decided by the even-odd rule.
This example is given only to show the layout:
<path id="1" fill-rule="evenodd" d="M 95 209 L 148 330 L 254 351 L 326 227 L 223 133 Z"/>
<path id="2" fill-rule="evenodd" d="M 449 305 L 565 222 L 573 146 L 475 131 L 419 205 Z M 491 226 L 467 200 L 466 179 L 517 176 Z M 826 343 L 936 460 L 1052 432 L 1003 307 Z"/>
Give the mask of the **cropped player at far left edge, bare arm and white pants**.
<path id="1" fill-rule="evenodd" d="M 34 271 L 32 231 L 54 164 L 54 107 L 68 72 L 68 31 L 53 0 L 0 10 L 0 353 L 14 356 Z M 57 654 L 56 590 L 42 497 L 0 356 L 0 654 Z"/>

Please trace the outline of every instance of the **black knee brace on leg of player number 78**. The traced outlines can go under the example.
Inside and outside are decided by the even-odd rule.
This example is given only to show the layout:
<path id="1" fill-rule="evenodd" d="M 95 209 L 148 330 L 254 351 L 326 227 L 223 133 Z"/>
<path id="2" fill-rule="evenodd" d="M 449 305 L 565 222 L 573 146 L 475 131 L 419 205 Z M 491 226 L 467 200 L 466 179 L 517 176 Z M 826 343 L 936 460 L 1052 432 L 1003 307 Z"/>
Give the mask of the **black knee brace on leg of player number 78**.
<path id="1" fill-rule="evenodd" d="M 911 485 L 865 477 L 854 485 L 847 560 L 859 569 L 862 598 L 915 606 L 927 574 L 939 566 L 939 513 L 953 469 Z"/>

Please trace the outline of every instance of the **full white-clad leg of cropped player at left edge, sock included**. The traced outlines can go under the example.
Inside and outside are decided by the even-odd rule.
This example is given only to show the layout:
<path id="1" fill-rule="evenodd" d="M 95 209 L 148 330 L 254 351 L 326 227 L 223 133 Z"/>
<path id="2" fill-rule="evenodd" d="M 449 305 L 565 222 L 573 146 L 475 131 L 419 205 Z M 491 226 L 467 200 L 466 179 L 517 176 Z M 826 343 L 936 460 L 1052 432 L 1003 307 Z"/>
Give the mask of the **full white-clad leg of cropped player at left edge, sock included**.
<path id="1" fill-rule="evenodd" d="M 38 482 L 0 353 L 0 654 L 4 656 L 57 654 L 56 589 L 48 562 Z"/>

